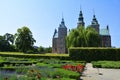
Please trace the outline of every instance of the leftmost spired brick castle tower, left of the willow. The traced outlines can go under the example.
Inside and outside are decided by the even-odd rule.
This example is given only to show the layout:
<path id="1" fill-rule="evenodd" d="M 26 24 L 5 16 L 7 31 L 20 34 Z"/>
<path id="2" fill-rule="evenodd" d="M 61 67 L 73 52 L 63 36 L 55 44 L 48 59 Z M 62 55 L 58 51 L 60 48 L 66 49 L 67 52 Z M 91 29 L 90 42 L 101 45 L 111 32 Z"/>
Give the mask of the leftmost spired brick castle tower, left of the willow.
<path id="1" fill-rule="evenodd" d="M 67 27 L 65 26 L 64 19 L 62 18 L 61 24 L 58 27 L 58 53 L 66 53 L 66 36 Z"/>

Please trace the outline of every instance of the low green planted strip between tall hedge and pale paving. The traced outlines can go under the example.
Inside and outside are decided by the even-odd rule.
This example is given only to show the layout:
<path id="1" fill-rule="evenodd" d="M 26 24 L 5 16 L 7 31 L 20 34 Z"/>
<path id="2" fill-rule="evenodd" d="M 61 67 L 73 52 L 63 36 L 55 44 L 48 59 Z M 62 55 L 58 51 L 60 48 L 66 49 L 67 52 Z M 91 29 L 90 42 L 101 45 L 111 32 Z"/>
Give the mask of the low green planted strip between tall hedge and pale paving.
<path id="1" fill-rule="evenodd" d="M 120 69 L 120 61 L 93 61 L 93 67 Z"/>

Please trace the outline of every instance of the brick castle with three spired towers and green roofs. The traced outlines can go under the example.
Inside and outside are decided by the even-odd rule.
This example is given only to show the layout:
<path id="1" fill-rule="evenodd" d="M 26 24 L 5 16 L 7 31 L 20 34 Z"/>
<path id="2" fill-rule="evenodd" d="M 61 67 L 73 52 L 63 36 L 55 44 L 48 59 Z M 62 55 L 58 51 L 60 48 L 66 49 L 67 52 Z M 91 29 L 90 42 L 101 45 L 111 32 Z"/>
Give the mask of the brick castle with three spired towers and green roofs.
<path id="1" fill-rule="evenodd" d="M 78 18 L 78 26 L 85 26 L 84 17 L 82 11 L 80 11 Z M 109 26 L 105 29 L 100 29 L 100 25 L 96 19 L 96 16 L 93 15 L 91 22 L 91 27 L 93 27 L 101 37 L 101 47 L 111 47 L 111 35 L 109 33 Z M 62 18 L 61 24 L 58 27 L 58 31 L 55 29 L 53 38 L 52 38 L 52 52 L 53 53 L 67 53 L 66 48 L 66 36 L 69 34 L 67 27 L 65 26 L 64 19 Z"/>

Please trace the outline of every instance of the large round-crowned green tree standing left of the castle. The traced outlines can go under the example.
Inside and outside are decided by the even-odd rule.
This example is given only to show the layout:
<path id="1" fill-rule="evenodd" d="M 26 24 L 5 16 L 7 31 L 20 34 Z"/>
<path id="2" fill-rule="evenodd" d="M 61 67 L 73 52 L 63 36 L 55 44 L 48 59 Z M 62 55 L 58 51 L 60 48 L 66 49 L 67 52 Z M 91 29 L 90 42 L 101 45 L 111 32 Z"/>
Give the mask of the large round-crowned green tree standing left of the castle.
<path id="1" fill-rule="evenodd" d="M 15 45 L 19 51 L 26 53 L 33 47 L 34 43 L 36 42 L 33 38 L 32 32 L 26 26 L 19 28 L 15 35 Z"/>

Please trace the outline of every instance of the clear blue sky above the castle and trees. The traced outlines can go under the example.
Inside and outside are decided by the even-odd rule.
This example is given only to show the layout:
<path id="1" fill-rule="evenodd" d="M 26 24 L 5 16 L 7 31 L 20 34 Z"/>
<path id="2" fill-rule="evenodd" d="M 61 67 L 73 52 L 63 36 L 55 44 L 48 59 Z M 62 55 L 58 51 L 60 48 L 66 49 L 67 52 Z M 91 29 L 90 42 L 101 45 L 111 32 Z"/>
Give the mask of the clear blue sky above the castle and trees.
<path id="1" fill-rule="evenodd" d="M 120 47 L 120 0 L 0 0 L 0 35 L 27 26 L 36 46 L 52 46 L 62 15 L 68 29 L 76 28 L 82 10 L 85 26 L 96 15 L 100 28 L 109 25 L 112 46 Z"/>

